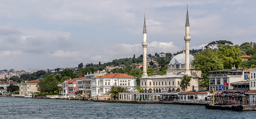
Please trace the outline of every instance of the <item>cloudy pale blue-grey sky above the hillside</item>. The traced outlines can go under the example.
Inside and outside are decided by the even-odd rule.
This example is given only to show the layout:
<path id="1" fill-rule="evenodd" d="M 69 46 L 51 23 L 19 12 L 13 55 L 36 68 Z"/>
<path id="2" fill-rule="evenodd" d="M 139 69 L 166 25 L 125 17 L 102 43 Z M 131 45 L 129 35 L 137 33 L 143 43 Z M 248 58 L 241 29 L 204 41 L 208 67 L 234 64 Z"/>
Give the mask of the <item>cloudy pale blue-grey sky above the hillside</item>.
<path id="1" fill-rule="evenodd" d="M 69 68 L 218 40 L 255 41 L 255 0 L 1 0 L 0 70 Z"/>

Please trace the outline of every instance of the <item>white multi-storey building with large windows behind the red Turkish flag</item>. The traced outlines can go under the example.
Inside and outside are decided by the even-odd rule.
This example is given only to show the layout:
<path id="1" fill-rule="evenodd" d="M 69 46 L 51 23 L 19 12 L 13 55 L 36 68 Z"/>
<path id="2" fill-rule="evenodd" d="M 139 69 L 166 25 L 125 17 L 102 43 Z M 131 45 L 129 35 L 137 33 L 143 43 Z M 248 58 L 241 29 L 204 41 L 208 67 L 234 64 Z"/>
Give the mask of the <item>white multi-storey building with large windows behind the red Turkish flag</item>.
<path id="1" fill-rule="evenodd" d="M 243 69 L 224 69 L 209 71 L 209 90 L 219 90 L 219 85 L 223 86 L 224 90 L 228 90 L 229 86 L 224 85 L 227 82 L 229 85 L 234 82 L 244 81 Z M 238 87 L 237 87 L 238 88 Z"/>

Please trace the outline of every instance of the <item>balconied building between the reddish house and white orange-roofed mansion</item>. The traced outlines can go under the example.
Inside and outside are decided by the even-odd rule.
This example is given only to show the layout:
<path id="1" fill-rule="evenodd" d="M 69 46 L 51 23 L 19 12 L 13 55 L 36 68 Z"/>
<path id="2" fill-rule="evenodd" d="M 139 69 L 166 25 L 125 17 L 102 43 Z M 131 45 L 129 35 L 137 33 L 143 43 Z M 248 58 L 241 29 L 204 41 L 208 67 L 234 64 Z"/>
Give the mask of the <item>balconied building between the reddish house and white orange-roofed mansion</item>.
<path id="1" fill-rule="evenodd" d="M 77 91 L 78 95 L 87 96 L 89 93 L 91 93 L 91 78 L 102 76 L 104 75 L 104 72 L 98 72 L 93 74 L 87 74 L 84 75 L 84 77 L 76 78 L 78 81 L 77 84 Z"/>

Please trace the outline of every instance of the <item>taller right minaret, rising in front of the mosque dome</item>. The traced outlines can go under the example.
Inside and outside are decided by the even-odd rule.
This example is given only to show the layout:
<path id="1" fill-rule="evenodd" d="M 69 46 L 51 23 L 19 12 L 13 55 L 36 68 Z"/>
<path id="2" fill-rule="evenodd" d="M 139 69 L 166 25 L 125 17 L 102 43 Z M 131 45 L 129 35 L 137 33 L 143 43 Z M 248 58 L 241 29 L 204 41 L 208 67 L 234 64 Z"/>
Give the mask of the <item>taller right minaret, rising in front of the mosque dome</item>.
<path id="1" fill-rule="evenodd" d="M 186 42 L 186 70 L 185 70 L 185 74 L 187 75 L 191 75 L 190 71 L 189 71 L 189 41 L 191 39 L 190 34 L 189 34 L 189 20 L 188 20 L 188 5 L 187 5 L 187 18 L 186 18 L 186 35 L 184 37 L 184 40 Z"/>

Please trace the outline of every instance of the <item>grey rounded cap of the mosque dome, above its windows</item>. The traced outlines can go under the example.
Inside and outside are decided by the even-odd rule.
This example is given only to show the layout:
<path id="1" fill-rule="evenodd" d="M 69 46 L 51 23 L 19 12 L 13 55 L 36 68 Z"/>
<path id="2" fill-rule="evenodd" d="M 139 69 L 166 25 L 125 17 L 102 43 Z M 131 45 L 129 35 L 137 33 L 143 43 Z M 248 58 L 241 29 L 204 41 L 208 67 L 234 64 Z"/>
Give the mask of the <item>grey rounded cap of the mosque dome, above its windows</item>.
<path id="1" fill-rule="evenodd" d="M 191 61 L 194 60 L 194 56 L 189 54 L 189 64 L 191 64 Z M 169 65 L 172 64 L 185 64 L 186 63 L 186 54 L 185 53 L 181 53 L 181 54 L 177 54 L 175 55 L 172 60 L 170 61 Z"/>

